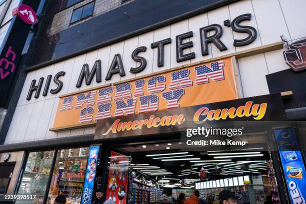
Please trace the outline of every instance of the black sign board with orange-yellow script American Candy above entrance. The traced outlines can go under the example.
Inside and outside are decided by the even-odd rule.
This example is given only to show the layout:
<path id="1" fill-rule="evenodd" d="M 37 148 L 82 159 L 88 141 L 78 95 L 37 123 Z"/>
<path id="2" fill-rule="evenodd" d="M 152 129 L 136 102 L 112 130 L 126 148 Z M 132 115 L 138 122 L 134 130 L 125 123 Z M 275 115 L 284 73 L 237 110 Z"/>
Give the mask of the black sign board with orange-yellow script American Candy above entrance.
<path id="1" fill-rule="evenodd" d="M 95 139 L 181 131 L 223 121 L 285 120 L 280 93 L 98 120 Z"/>

